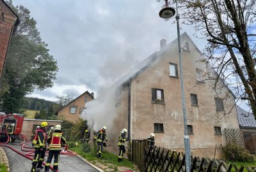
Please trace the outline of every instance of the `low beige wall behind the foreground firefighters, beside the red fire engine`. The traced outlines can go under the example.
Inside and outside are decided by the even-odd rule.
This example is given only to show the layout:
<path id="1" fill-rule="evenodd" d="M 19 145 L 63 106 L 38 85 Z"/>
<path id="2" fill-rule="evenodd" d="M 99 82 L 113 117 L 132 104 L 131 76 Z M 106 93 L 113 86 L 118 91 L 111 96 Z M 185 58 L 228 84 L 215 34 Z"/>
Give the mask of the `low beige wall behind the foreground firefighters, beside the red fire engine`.
<path id="1" fill-rule="evenodd" d="M 33 125 L 41 125 L 41 123 L 44 121 L 48 122 L 49 125 L 53 125 L 53 126 L 57 124 L 61 125 L 61 122 L 62 122 L 62 120 L 35 120 L 35 119 L 24 118 L 21 134 L 26 136 L 26 138 L 30 139 L 31 134 L 33 133 Z"/>

